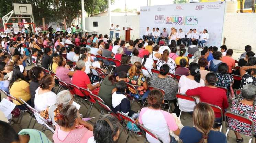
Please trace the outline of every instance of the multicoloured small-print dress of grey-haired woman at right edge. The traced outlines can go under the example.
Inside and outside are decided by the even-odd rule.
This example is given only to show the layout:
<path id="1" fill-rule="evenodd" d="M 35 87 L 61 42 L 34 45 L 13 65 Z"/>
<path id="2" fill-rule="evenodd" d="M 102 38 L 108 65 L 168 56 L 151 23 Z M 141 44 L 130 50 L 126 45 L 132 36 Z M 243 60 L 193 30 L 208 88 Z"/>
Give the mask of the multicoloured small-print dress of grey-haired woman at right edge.
<path id="1" fill-rule="evenodd" d="M 254 122 L 254 125 L 256 124 L 256 108 L 252 105 L 246 105 L 241 102 L 239 102 L 237 99 L 234 99 L 232 101 L 231 106 L 231 112 L 245 116 L 249 119 L 252 119 Z M 235 119 L 228 119 L 228 125 L 229 127 L 237 131 L 239 133 L 242 133 L 244 135 L 251 135 L 251 126 L 246 123 L 241 123 L 238 120 Z M 254 134 L 256 134 L 256 126 L 254 126 Z"/>

